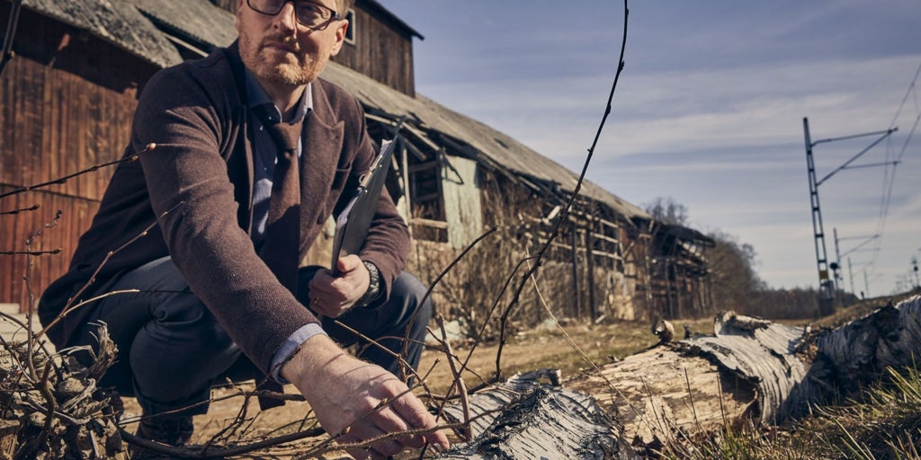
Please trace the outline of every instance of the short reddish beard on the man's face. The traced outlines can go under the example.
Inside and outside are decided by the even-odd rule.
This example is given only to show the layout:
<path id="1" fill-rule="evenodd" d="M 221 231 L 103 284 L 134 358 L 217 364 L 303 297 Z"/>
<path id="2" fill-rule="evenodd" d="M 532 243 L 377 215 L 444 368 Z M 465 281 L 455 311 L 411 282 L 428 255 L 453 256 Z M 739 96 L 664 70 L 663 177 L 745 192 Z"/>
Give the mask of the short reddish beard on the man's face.
<path id="1" fill-rule="evenodd" d="M 281 54 L 267 48 L 267 44 L 280 43 L 293 51 Z M 302 86 L 317 79 L 329 56 L 321 52 L 303 52 L 297 40 L 281 35 L 257 40 L 250 34 L 240 31 L 239 54 L 250 71 L 267 83 Z M 292 55 L 294 59 L 292 59 Z"/>

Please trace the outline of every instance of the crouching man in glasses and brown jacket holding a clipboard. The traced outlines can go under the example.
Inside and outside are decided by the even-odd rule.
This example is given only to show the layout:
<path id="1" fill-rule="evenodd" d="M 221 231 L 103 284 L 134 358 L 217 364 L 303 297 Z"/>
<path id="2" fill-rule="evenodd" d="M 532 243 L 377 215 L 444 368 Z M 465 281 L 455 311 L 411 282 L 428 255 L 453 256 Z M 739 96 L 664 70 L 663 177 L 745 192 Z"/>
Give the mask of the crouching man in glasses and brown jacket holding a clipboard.
<path id="1" fill-rule="evenodd" d="M 186 443 L 209 387 L 248 362 L 294 384 L 326 431 L 348 427 L 342 443 L 436 424 L 394 375 L 418 362 L 431 305 L 402 272 L 409 236 L 386 190 L 365 247 L 339 259 L 336 276 L 297 270 L 374 156 L 356 100 L 317 78 L 343 46 L 350 4 L 239 0 L 237 42 L 151 78 L 126 155 L 157 146 L 117 168 L 70 270 L 42 296 L 43 324 L 66 312 L 49 332 L 59 348 L 94 344 L 92 324 L 109 325 L 119 362 L 101 385 L 137 397 L 139 436 Z M 296 156 L 280 153 L 283 128 Z M 285 204 L 292 183 L 299 202 Z M 389 351 L 370 346 L 363 357 L 375 364 L 363 362 L 327 335 L 355 342 L 351 329 Z M 401 362 L 402 340 L 385 338 L 404 334 Z M 349 453 L 382 458 L 426 442 L 448 446 L 434 432 Z"/>

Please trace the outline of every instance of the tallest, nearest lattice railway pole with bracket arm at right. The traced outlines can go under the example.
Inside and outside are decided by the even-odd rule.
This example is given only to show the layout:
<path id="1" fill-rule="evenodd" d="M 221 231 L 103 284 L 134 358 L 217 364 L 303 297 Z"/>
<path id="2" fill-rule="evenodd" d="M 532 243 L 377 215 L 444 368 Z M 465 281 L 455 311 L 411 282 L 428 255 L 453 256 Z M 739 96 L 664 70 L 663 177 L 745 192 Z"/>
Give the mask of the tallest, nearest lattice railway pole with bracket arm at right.
<path id="1" fill-rule="evenodd" d="M 822 182 L 828 180 L 838 171 L 845 169 L 850 166 L 854 160 L 857 160 L 861 155 L 866 154 L 869 149 L 873 148 L 874 145 L 880 144 L 883 139 L 888 137 L 892 132 L 898 131 L 898 128 L 891 128 L 886 131 L 879 132 L 867 132 L 863 134 L 855 134 L 844 137 L 837 137 L 832 139 L 822 139 L 820 141 L 812 141 L 809 131 L 809 119 L 803 117 L 803 133 L 806 138 L 806 166 L 809 172 L 809 194 L 810 194 L 810 203 L 812 208 L 812 233 L 815 240 L 815 260 L 816 266 L 819 270 L 819 315 L 829 316 L 834 313 L 834 282 L 828 278 L 828 252 L 825 248 L 825 229 L 822 225 L 822 207 L 819 205 L 819 186 L 822 185 Z M 847 160 L 845 164 L 840 167 L 835 168 L 831 173 L 827 174 L 824 178 L 816 180 L 815 177 L 815 160 L 812 158 L 812 147 L 816 144 L 832 142 L 832 141 L 843 141 L 845 139 L 854 139 L 857 137 L 869 136 L 869 135 L 878 135 L 881 134 L 880 138 L 874 141 L 872 144 L 857 155 L 851 157 Z M 875 165 L 865 165 L 865 166 L 882 166 L 889 165 L 894 162 L 880 163 Z M 835 269 L 837 268 L 837 263 L 834 264 Z M 864 273 L 866 275 L 866 272 Z M 864 277 L 866 280 L 866 276 Z M 867 288 L 869 291 L 869 286 Z"/>

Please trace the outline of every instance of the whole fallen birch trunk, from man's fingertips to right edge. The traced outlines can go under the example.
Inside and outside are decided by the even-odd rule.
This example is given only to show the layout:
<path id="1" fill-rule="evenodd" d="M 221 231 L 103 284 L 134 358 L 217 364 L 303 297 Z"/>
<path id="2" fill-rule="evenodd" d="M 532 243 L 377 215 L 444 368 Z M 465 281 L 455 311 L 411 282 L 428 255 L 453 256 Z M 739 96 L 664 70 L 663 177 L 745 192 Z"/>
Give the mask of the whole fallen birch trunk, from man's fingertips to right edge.
<path id="1" fill-rule="evenodd" d="M 570 378 L 565 388 L 543 390 L 552 398 L 590 395 L 578 407 L 597 403 L 609 419 L 586 415 L 591 411 L 573 406 L 535 404 L 530 397 L 534 391 L 520 382 L 513 384 L 519 385 L 514 391 L 503 384 L 474 395 L 470 414 L 461 408 L 450 408 L 449 414 L 456 421 L 481 418 L 479 426 L 472 427 L 475 437 L 443 458 L 539 458 L 542 449 L 560 439 L 575 446 L 616 447 L 611 451 L 616 456 L 604 449 L 575 448 L 561 458 L 630 458 L 690 433 L 718 432 L 728 423 L 749 420 L 775 424 L 819 405 L 857 397 L 861 388 L 879 381 L 886 368 L 915 362 L 918 351 L 921 296 L 834 330 L 813 331 L 725 313 L 717 316 L 713 335 L 662 343 L 605 365 L 600 374 Z M 595 428 L 574 428 L 578 423 L 572 421 L 572 412 Z M 513 430 L 508 420 L 517 420 Z M 601 443 L 600 436 L 610 440 Z M 624 447 L 628 440 L 635 452 Z M 543 456 L 557 452 L 564 451 Z"/>

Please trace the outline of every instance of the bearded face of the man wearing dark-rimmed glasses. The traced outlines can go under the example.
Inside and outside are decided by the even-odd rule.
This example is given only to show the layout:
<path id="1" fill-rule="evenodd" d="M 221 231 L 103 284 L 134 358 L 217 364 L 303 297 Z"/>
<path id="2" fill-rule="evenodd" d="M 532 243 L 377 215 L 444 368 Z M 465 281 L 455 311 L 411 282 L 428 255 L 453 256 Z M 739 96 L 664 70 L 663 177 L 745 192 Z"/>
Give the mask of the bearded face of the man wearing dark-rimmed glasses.
<path id="1" fill-rule="evenodd" d="M 334 0 L 313 1 L 337 7 Z M 291 2 L 274 16 L 252 10 L 246 0 L 239 0 L 237 8 L 240 57 L 263 85 L 301 86 L 315 80 L 342 49 L 347 27 L 348 21 L 333 20 L 326 29 L 309 29 L 297 23 Z"/>

